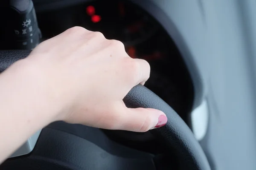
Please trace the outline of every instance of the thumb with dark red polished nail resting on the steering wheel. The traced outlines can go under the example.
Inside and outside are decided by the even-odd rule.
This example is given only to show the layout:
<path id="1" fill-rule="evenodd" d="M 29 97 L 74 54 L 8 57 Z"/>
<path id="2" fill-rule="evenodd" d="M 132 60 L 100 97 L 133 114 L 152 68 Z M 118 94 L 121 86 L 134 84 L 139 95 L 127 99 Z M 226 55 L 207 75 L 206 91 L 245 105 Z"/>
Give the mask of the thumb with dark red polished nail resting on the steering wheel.
<path id="1" fill-rule="evenodd" d="M 166 122 L 167 117 L 162 111 L 151 108 L 124 107 L 116 128 L 119 130 L 146 132 L 152 128 L 162 127 Z"/>

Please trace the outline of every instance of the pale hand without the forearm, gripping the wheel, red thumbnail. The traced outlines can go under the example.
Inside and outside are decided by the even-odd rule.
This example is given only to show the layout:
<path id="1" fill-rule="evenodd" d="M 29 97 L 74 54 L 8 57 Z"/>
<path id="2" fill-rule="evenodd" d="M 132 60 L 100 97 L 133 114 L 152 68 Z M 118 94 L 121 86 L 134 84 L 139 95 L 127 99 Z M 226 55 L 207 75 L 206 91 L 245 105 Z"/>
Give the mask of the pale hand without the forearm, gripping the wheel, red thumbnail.
<path id="1" fill-rule="evenodd" d="M 56 119 L 136 132 L 167 121 L 161 111 L 125 106 L 122 99 L 147 81 L 150 66 L 129 57 L 122 42 L 107 40 L 100 32 L 70 28 L 42 42 L 23 63 L 30 79 L 36 79 L 32 86 L 44 92 L 42 102 L 58 111 Z"/>

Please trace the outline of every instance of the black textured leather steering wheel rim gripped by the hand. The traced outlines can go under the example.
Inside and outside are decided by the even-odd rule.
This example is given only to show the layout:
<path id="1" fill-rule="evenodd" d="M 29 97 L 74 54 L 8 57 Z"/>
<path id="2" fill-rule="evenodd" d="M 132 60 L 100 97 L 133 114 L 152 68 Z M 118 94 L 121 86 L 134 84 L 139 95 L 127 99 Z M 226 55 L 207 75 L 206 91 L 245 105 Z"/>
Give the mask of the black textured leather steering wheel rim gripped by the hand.
<path id="1" fill-rule="evenodd" d="M 28 56 L 26 50 L 0 51 L 0 72 L 12 63 Z M 155 108 L 166 113 L 168 122 L 165 126 L 151 130 L 159 139 L 167 154 L 174 154 L 179 161 L 180 170 L 210 170 L 209 162 L 192 131 L 180 116 L 159 96 L 143 85 L 137 85 L 124 98 L 129 108 Z"/>

